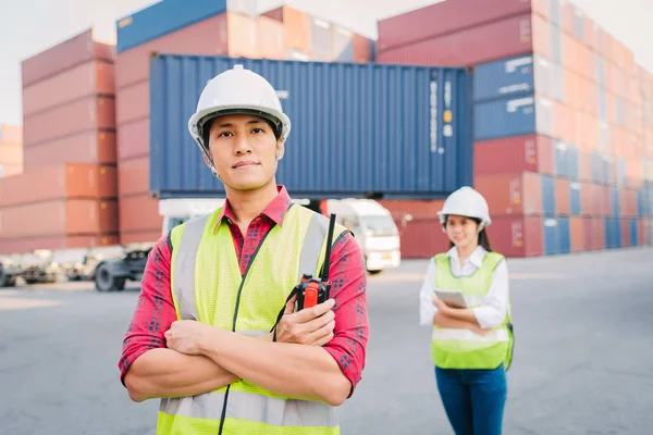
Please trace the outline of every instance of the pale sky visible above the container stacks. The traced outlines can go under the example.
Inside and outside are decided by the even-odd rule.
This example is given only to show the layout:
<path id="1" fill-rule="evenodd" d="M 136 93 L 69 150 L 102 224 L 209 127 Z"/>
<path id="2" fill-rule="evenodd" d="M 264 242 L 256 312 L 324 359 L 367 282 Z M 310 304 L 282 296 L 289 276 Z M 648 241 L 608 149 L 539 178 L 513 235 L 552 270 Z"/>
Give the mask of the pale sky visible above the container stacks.
<path id="1" fill-rule="evenodd" d="M 452 1 L 452 0 L 445 0 Z M 259 10 L 282 3 L 375 38 L 380 17 L 433 0 L 259 0 Z M 653 0 L 572 0 L 653 72 Z M 115 21 L 152 0 L 0 0 L 0 123 L 22 124 L 21 61 L 93 26 L 102 40 L 115 40 Z M 618 4 L 618 5 L 617 5 Z"/>

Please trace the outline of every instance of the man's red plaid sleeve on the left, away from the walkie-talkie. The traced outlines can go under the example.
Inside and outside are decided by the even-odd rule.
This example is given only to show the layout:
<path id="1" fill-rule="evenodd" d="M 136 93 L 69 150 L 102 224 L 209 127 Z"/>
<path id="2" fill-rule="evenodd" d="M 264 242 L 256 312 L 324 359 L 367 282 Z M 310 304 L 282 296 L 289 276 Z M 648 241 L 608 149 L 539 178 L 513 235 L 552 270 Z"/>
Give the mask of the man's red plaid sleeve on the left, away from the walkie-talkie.
<path id="1" fill-rule="evenodd" d="M 176 320 L 170 290 L 171 257 L 169 236 L 164 236 L 149 253 L 140 295 L 123 339 L 118 364 L 123 385 L 127 370 L 138 357 L 150 349 L 165 347 L 164 333 Z"/>

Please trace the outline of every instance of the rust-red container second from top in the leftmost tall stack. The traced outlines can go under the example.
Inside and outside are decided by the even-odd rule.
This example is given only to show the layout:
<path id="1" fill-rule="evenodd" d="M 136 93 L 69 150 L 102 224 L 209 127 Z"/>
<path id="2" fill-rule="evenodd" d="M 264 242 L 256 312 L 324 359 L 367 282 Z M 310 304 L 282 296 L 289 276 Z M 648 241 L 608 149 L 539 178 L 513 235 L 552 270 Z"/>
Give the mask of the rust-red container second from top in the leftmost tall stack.
<path id="1" fill-rule="evenodd" d="M 94 95 L 113 97 L 113 64 L 91 61 L 23 88 L 23 115 Z"/>

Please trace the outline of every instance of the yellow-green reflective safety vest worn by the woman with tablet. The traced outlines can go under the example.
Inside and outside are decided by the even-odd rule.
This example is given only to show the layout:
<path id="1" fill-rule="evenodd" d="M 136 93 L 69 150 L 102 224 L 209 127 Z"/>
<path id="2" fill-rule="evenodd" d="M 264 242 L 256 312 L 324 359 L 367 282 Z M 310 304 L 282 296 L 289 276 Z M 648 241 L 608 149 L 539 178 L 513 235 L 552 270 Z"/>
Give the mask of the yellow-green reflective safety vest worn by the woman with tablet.
<path id="1" fill-rule="evenodd" d="M 456 277 L 452 274 L 447 253 L 434 257 L 436 274 L 435 287 L 458 289 L 463 293 L 468 308 L 480 306 L 492 285 L 492 273 L 504 257 L 488 252 L 481 268 L 470 276 Z M 504 322 L 486 336 L 470 330 L 447 328 L 433 325 L 431 353 L 433 362 L 441 369 L 496 369 L 502 363 L 506 370 L 513 360 L 513 325 L 510 302 Z"/>

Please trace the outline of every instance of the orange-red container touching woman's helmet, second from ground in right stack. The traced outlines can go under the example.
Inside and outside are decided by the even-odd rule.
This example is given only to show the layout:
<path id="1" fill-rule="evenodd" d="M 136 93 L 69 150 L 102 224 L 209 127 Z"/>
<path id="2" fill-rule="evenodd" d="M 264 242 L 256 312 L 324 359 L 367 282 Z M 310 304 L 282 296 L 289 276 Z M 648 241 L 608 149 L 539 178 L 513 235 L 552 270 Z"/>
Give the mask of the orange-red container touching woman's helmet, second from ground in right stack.
<path id="1" fill-rule="evenodd" d="M 542 213 L 540 174 L 525 172 L 478 176 L 475 178 L 475 188 L 485 197 L 490 215 Z"/>

